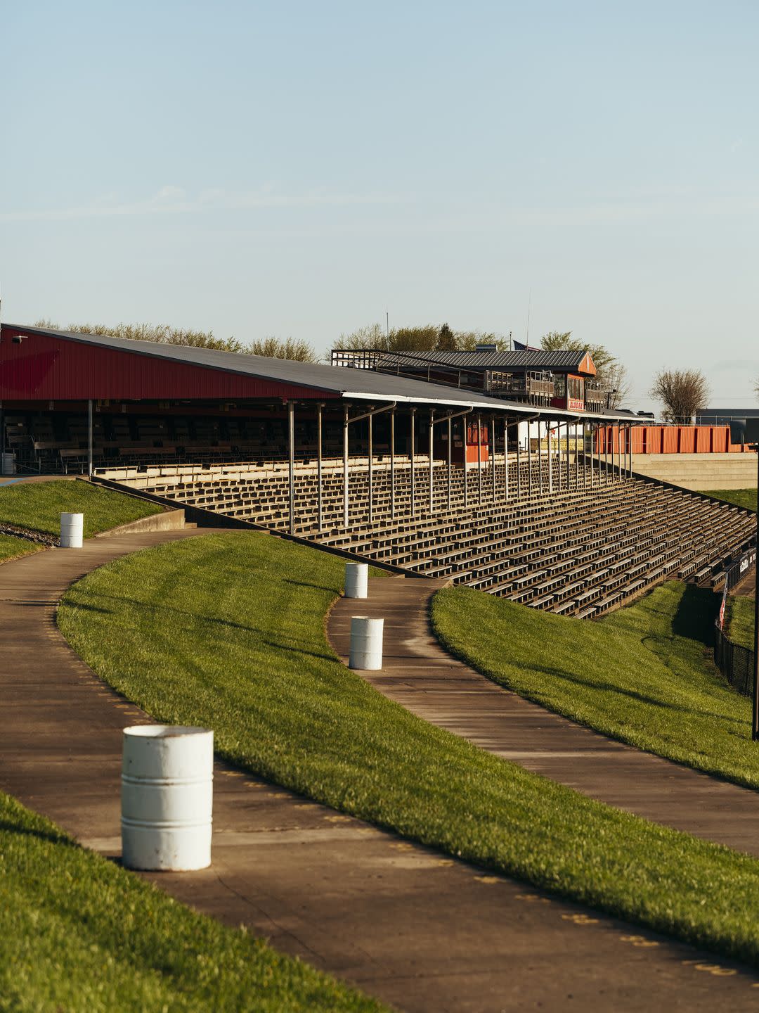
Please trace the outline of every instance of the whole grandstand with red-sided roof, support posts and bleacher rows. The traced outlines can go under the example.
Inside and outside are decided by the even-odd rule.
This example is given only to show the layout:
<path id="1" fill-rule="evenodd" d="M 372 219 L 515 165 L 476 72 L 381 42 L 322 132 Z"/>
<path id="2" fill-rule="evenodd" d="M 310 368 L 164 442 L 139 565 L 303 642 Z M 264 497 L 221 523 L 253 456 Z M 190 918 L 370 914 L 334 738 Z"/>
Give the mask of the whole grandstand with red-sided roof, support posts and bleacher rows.
<path id="1" fill-rule="evenodd" d="M 558 614 L 672 577 L 718 586 L 754 542 L 750 512 L 632 475 L 625 412 L 13 325 L 0 365 L 21 465 Z"/>

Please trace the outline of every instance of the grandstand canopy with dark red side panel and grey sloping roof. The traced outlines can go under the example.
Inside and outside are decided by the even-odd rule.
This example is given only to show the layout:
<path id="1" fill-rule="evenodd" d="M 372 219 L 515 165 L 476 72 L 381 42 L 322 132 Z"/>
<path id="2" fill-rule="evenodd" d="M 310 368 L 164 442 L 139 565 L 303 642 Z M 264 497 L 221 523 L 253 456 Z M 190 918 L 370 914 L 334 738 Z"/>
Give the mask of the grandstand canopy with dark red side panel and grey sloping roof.
<path id="1" fill-rule="evenodd" d="M 448 355 L 436 353 L 435 355 Z M 468 355 L 454 353 L 451 355 Z M 481 354 L 479 354 L 481 355 Z M 521 356 L 523 353 L 496 353 Z M 549 354 L 545 354 L 549 355 Z M 573 356 L 575 353 L 552 353 Z M 573 368 L 575 368 L 573 366 Z M 530 417 L 624 418 L 626 412 L 539 409 L 472 390 L 363 369 L 344 369 L 100 334 L 3 324 L 3 402 L 160 399 L 365 400 L 472 407 Z"/>

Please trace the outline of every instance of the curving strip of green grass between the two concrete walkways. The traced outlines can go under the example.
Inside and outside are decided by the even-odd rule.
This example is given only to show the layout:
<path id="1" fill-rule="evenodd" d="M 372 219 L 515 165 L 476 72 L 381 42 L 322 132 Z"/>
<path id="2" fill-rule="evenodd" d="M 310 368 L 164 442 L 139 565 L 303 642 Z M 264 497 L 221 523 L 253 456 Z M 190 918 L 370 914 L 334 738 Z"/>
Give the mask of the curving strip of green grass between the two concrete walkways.
<path id="1" fill-rule="evenodd" d="M 91 573 L 59 624 L 112 686 L 158 720 L 213 727 L 242 768 L 759 966 L 759 861 L 603 805 L 382 696 L 326 641 L 343 566 L 263 535 L 206 535 Z"/>

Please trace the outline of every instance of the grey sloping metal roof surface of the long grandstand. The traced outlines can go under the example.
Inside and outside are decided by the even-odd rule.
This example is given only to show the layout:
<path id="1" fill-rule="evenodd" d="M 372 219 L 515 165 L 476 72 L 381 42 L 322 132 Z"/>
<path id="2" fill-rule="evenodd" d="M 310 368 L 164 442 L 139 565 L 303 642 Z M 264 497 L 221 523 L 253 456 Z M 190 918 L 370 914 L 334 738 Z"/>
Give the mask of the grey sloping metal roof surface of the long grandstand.
<path id="1" fill-rule="evenodd" d="M 23 324 L 3 324 L 2 328 L 27 334 L 47 334 L 66 340 L 128 352 L 133 355 L 189 363 L 207 369 L 259 377 L 284 384 L 308 387 L 313 389 L 315 393 L 319 391 L 329 392 L 345 399 L 441 404 L 461 408 L 472 406 L 499 412 L 509 411 L 513 414 L 540 414 L 553 418 L 578 417 L 577 412 L 565 411 L 561 408 L 541 410 L 533 405 L 488 397 L 484 394 L 478 394 L 476 391 L 458 390 L 443 384 L 396 377 L 372 370 L 346 369 L 344 367 L 324 366 L 319 363 L 298 363 L 287 359 L 269 359 L 264 356 L 217 352 L 213 348 L 137 341 L 130 338 L 108 337 L 103 334 L 72 333 L 71 331 L 29 327 Z M 461 355 L 461 353 L 454 353 L 454 355 Z M 499 353 L 498 355 L 504 354 Z M 508 355 L 517 355 L 517 353 L 508 353 Z M 582 414 L 588 416 L 591 413 L 583 412 Z"/>

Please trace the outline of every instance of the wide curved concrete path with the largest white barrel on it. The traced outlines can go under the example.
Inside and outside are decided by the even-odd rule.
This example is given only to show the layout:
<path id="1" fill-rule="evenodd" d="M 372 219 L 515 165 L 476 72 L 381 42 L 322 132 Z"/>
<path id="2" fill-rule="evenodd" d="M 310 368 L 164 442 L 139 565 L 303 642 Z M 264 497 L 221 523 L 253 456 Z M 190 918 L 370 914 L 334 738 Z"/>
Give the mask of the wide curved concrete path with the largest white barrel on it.
<path id="1" fill-rule="evenodd" d="M 121 729 L 150 718 L 68 647 L 56 603 L 72 580 L 111 558 L 195 534 L 95 539 L 80 552 L 50 550 L 0 566 L 0 787 L 114 858 Z M 381 581 L 395 594 L 412 582 L 421 586 Z M 431 659 L 433 671 L 439 680 Z M 216 777 L 212 868 L 149 878 L 401 1009 L 756 1007 L 759 976 L 738 964 L 556 901 L 224 764 Z"/>

